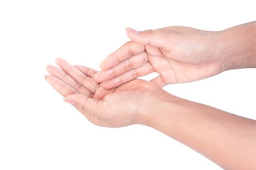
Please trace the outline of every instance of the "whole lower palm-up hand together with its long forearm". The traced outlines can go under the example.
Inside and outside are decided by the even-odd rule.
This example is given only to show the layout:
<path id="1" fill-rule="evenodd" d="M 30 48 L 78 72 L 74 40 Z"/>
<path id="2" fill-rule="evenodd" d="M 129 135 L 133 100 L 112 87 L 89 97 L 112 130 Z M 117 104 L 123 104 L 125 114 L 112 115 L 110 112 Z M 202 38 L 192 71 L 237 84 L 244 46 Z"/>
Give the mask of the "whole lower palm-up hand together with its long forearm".
<path id="1" fill-rule="evenodd" d="M 91 78 L 96 70 L 72 66 L 63 59 L 56 63 L 62 70 L 47 66 L 46 80 L 92 123 L 150 126 L 226 170 L 255 170 L 255 120 L 178 98 L 144 80 L 105 90 Z"/>

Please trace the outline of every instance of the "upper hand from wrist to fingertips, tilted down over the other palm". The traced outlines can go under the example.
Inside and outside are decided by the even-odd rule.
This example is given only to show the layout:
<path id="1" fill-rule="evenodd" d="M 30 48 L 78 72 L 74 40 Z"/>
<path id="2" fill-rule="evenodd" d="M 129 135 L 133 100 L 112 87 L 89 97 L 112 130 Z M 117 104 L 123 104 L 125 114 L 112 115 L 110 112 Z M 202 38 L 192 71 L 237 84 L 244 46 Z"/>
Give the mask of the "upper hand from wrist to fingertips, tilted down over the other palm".
<path id="1" fill-rule="evenodd" d="M 101 62 L 96 82 L 111 89 L 151 72 L 151 80 L 162 87 L 214 76 L 222 72 L 224 46 L 221 32 L 173 26 L 138 32 L 127 28 L 132 40 Z"/>

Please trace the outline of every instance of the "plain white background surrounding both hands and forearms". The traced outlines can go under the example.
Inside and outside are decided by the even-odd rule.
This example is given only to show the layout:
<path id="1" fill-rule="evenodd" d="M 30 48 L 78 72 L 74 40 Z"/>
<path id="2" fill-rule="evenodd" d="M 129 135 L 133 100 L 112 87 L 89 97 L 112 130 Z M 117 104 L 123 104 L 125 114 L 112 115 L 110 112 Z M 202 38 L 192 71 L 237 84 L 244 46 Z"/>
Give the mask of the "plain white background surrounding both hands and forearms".
<path id="1" fill-rule="evenodd" d="M 0 170 L 221 170 L 152 128 L 91 124 L 43 77 L 57 57 L 99 69 L 125 27 L 217 31 L 255 20 L 253 2 L 0 0 Z M 255 87 L 256 69 L 239 69 L 164 89 L 256 119 Z"/>

